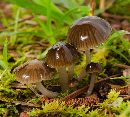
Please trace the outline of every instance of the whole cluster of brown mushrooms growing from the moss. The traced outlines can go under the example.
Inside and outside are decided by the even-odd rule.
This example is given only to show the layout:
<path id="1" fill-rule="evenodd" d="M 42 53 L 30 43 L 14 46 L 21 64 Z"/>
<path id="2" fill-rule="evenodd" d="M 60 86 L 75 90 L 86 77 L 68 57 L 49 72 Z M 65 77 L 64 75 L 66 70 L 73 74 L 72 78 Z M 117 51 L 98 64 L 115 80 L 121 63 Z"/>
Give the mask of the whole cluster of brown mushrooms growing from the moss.
<path id="1" fill-rule="evenodd" d="M 41 81 L 49 80 L 56 69 L 61 89 L 67 91 L 69 81 L 73 78 L 74 66 L 79 60 L 79 53 L 83 51 L 86 54 L 86 65 L 79 73 L 78 80 L 90 74 L 91 81 L 87 92 L 90 95 L 96 75 L 101 72 L 101 66 L 91 62 L 90 49 L 107 40 L 111 30 L 109 23 L 100 17 L 86 16 L 78 19 L 68 30 L 67 43 L 57 42 L 53 45 L 46 55 L 45 62 L 32 60 L 14 70 L 17 81 L 27 85 L 35 83 L 42 95 L 56 97 L 58 93 L 47 90 Z"/>

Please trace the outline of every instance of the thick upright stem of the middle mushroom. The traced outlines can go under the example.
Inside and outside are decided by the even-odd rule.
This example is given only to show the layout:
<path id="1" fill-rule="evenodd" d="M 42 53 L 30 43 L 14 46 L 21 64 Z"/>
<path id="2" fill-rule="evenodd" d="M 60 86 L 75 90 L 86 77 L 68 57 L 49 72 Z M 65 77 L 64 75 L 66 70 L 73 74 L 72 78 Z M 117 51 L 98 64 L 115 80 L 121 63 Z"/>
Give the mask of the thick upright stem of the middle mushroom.
<path id="1" fill-rule="evenodd" d="M 60 76 L 60 86 L 62 91 L 66 91 L 69 88 L 68 84 L 68 74 L 66 72 L 65 67 L 59 68 L 59 76 Z"/>

